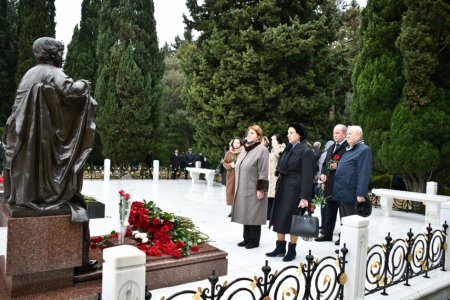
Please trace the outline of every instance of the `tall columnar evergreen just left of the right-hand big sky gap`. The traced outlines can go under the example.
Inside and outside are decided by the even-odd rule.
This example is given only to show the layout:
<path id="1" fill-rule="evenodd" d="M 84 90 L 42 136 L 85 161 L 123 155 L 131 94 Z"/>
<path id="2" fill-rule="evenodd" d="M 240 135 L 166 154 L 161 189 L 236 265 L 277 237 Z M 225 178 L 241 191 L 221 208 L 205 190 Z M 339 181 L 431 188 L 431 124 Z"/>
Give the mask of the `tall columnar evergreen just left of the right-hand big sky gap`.
<path id="1" fill-rule="evenodd" d="M 164 71 L 153 1 L 103 1 L 97 59 L 103 153 L 115 163 L 140 161 L 154 142 Z"/>

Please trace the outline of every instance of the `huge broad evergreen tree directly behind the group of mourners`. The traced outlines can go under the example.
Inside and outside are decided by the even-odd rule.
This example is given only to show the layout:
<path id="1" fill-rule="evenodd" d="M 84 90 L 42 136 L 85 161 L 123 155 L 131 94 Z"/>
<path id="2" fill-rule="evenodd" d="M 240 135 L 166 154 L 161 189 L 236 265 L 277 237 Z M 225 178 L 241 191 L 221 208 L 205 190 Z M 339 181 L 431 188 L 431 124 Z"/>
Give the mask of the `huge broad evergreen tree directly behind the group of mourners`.
<path id="1" fill-rule="evenodd" d="M 313 139 L 329 135 L 334 2 L 187 1 L 187 27 L 200 32 L 182 61 L 197 148 L 217 160 L 252 123 L 272 134 L 300 121 Z"/>

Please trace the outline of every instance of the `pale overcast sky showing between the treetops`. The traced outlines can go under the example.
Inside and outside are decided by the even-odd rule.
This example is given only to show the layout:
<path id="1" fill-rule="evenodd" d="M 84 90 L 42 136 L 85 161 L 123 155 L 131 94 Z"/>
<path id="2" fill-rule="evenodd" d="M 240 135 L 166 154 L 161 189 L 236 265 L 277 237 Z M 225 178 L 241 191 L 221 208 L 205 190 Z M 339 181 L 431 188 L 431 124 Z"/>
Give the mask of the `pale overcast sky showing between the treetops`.
<path id="1" fill-rule="evenodd" d="M 350 0 L 347 0 L 350 1 Z M 82 0 L 55 0 L 56 6 L 56 39 L 69 44 L 72 39 L 73 28 L 81 19 Z M 361 6 L 366 0 L 358 0 Z M 173 44 L 175 37 L 183 37 L 183 14 L 189 15 L 186 0 L 153 0 L 155 5 L 156 31 L 159 46 L 166 42 Z"/>

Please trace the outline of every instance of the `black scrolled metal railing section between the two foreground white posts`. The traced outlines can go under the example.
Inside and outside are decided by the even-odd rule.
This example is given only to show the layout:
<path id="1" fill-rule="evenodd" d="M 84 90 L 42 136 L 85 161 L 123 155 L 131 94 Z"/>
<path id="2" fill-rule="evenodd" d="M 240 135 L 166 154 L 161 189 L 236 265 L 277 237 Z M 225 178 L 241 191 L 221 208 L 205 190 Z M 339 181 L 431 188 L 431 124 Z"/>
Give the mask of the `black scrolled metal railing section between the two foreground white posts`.
<path id="1" fill-rule="evenodd" d="M 343 299 L 345 273 L 345 257 L 348 250 L 341 249 L 341 256 L 327 256 L 314 259 L 309 251 L 306 262 L 298 266 L 291 265 L 281 271 L 271 272 L 266 260 L 262 267 L 263 275 L 253 278 L 241 277 L 231 282 L 218 284 L 219 277 L 213 271 L 208 277 L 210 287 L 197 290 L 185 290 L 164 299 L 177 299 L 182 295 L 193 295 L 192 299 Z M 151 294 L 151 292 L 150 292 Z"/>

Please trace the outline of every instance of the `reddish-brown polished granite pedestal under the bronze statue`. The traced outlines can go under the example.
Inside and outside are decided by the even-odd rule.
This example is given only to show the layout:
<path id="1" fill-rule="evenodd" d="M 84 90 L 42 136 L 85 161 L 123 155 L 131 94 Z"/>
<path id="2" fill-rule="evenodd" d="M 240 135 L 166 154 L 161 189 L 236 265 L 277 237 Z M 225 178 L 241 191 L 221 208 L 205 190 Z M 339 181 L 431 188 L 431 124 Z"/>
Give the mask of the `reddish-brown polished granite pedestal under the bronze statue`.
<path id="1" fill-rule="evenodd" d="M 73 285 L 73 268 L 82 259 L 82 224 L 70 223 L 69 215 L 13 218 L 0 203 L 0 226 L 7 227 L 0 277 L 11 297 Z"/>

